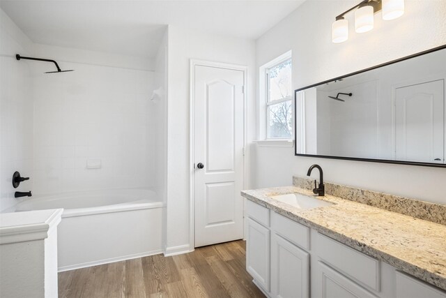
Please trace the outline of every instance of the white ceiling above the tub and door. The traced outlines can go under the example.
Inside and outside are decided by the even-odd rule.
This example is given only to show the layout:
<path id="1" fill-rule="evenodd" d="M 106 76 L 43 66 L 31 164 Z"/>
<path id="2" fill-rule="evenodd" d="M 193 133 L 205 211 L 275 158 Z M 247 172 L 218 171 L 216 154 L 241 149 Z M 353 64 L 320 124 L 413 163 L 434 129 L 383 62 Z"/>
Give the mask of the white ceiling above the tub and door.
<path id="1" fill-rule="evenodd" d="M 1 0 L 0 7 L 34 43 L 154 57 L 166 24 L 256 39 L 303 1 Z"/>

